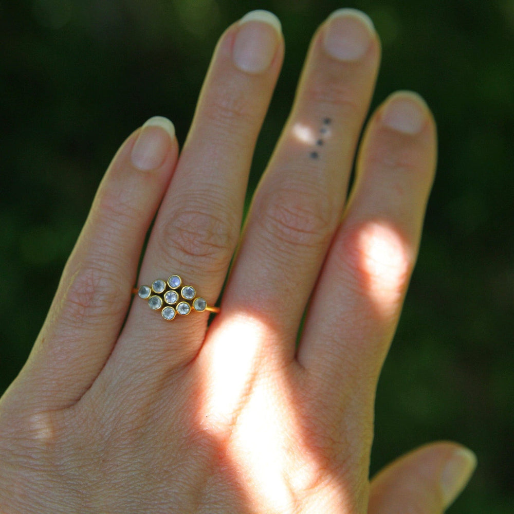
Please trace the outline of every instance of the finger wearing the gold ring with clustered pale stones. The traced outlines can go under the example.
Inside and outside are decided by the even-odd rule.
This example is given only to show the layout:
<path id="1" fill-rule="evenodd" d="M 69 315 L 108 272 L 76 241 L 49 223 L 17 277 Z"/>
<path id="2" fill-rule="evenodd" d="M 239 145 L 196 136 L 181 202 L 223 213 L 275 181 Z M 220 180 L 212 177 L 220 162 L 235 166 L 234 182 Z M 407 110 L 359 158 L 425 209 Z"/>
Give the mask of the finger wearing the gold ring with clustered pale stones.
<path id="1" fill-rule="evenodd" d="M 152 229 L 140 284 L 177 273 L 209 304 L 216 301 L 237 243 L 254 144 L 282 55 L 280 22 L 267 11 L 247 14 L 222 36 Z M 166 369 L 188 362 L 203 341 L 208 316 L 179 318 L 166 322 L 136 297 L 127 336 L 122 334 L 115 352 L 129 352 L 138 367 L 144 359 Z"/>

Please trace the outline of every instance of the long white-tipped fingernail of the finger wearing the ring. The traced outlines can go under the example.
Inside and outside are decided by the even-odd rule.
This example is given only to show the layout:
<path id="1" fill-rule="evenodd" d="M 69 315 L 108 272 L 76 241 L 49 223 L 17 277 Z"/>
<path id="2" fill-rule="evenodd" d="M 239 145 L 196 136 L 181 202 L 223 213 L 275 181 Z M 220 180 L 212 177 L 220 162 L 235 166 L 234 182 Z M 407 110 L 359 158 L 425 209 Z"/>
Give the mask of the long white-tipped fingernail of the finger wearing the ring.
<path id="1" fill-rule="evenodd" d="M 282 27 L 277 16 L 269 11 L 256 10 L 239 21 L 239 30 L 232 49 L 235 65 L 251 74 L 268 69 L 277 47 Z"/>

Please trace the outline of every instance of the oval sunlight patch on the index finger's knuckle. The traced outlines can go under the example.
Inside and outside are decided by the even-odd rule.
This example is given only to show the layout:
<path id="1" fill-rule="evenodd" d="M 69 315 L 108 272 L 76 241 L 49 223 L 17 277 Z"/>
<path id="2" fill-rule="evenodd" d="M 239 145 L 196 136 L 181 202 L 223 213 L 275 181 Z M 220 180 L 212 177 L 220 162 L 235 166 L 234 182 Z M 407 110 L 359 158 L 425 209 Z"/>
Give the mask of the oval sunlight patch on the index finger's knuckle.
<path id="1" fill-rule="evenodd" d="M 410 274 L 405 239 L 391 225 L 370 222 L 359 228 L 357 255 L 366 294 L 379 314 L 391 315 L 403 298 Z"/>

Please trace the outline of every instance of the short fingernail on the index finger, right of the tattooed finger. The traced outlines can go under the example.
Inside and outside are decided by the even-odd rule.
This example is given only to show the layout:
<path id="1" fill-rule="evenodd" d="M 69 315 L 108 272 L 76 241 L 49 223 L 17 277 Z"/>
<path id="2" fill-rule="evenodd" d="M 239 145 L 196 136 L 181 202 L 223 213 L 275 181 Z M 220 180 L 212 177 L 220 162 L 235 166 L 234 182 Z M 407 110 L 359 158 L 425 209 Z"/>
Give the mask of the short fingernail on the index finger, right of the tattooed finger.
<path id="1" fill-rule="evenodd" d="M 412 91 L 395 93 L 382 111 L 382 123 L 395 131 L 417 134 L 423 128 L 428 107 Z"/>

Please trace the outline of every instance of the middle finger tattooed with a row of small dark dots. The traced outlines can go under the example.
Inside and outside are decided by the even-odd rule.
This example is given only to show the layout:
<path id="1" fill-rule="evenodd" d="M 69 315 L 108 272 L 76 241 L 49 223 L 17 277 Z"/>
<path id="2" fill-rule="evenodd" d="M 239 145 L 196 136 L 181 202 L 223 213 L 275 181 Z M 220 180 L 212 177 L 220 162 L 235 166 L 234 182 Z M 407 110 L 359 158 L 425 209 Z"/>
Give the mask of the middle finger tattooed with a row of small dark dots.
<path id="1" fill-rule="evenodd" d="M 371 20 L 329 16 L 311 43 L 292 112 L 255 194 L 223 309 L 265 320 L 286 359 L 340 221 L 380 57 Z M 255 299 L 258 299 L 258 304 Z M 284 353 L 285 352 L 285 353 Z"/>

